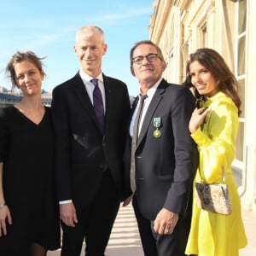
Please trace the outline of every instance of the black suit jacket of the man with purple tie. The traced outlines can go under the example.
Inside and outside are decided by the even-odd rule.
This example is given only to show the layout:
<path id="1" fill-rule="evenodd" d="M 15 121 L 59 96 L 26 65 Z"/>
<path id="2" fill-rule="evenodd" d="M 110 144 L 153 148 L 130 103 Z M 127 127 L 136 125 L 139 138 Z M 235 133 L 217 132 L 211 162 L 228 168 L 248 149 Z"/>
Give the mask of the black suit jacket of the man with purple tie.
<path id="1" fill-rule="evenodd" d="M 123 150 L 125 125 L 130 113 L 126 85 L 103 74 L 106 94 L 105 131 L 77 73 L 53 90 L 55 173 L 59 201 L 90 203 L 96 195 L 106 163 L 120 198 L 124 197 Z"/>

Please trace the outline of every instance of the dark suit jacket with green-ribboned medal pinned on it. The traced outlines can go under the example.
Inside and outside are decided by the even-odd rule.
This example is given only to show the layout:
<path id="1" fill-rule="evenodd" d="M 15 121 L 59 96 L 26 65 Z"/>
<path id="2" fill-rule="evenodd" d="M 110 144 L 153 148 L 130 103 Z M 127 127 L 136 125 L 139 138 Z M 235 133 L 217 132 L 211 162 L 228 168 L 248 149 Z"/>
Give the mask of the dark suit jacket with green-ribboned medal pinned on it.
<path id="1" fill-rule="evenodd" d="M 178 214 L 186 212 L 198 164 L 196 145 L 189 133 L 194 109 L 195 98 L 187 88 L 168 84 L 165 79 L 160 82 L 143 120 L 135 153 L 137 201 L 145 218 L 153 220 L 162 207 Z M 153 135 L 156 117 L 161 119 L 159 138 Z M 125 147 L 128 194 L 130 163 L 129 136 Z"/>

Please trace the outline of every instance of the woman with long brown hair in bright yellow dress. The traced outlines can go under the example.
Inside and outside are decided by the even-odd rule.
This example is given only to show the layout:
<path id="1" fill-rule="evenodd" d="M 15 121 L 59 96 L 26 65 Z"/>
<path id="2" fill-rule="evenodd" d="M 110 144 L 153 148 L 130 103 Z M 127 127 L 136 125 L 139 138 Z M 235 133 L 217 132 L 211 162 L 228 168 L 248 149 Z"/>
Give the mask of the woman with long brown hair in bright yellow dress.
<path id="1" fill-rule="evenodd" d="M 200 164 L 195 182 L 222 183 L 222 166 L 228 184 L 232 213 L 207 212 L 195 197 L 189 240 L 185 253 L 200 256 L 236 256 L 247 246 L 241 219 L 241 202 L 232 174 L 241 100 L 238 83 L 223 57 L 213 49 L 197 49 L 187 62 L 184 84 L 195 92 L 198 107 L 189 122 L 191 137 L 198 145 Z"/>

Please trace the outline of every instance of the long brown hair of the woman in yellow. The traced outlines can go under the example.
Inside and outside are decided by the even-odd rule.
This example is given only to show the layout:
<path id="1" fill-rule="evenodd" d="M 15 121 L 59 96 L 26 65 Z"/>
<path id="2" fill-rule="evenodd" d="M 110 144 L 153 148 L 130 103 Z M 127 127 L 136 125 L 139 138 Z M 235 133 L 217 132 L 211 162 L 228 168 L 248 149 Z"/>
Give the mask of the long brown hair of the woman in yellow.
<path id="1" fill-rule="evenodd" d="M 195 97 L 201 98 L 198 91 L 191 83 L 191 75 L 189 66 L 192 62 L 199 61 L 201 65 L 207 68 L 212 73 L 212 77 L 216 80 L 218 90 L 232 99 L 238 108 L 238 114 L 241 113 L 241 99 L 238 95 L 240 86 L 236 80 L 235 75 L 230 71 L 230 67 L 224 61 L 224 58 L 214 49 L 201 48 L 197 49 L 195 53 L 189 55 L 189 60 L 186 64 L 186 79 L 183 82 L 188 88 L 193 88 Z"/>

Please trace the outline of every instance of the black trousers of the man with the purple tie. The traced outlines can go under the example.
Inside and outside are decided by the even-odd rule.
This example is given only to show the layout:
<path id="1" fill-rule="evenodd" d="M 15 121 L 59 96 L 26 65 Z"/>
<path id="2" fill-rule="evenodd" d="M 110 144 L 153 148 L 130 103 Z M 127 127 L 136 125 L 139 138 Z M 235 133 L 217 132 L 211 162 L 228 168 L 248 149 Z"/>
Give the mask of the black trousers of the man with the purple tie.
<path id="1" fill-rule="evenodd" d="M 109 170 L 105 171 L 95 200 L 84 207 L 76 206 L 79 223 L 74 228 L 61 223 L 61 256 L 79 256 L 84 237 L 86 256 L 104 256 L 119 204 L 113 178 Z"/>

